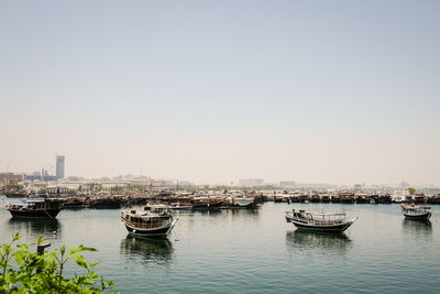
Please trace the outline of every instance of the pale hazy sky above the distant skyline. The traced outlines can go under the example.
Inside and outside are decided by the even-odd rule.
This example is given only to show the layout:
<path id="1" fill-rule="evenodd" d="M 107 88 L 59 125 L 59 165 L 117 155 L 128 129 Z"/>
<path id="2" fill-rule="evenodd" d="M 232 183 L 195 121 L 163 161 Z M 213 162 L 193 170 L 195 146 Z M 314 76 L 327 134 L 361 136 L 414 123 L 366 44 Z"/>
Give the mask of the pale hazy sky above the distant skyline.
<path id="1" fill-rule="evenodd" d="M 65 154 L 67 176 L 440 185 L 439 14 L 0 0 L 0 171 Z"/>

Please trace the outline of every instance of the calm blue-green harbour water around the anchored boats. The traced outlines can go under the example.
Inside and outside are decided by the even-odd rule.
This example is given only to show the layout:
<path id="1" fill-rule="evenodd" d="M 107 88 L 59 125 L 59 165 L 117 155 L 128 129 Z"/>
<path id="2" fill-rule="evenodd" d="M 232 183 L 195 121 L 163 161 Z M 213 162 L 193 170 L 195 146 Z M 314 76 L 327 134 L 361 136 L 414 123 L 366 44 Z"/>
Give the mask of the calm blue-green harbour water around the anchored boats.
<path id="1" fill-rule="evenodd" d="M 431 221 L 398 205 L 274 204 L 257 210 L 182 211 L 167 240 L 128 236 L 117 209 L 63 210 L 57 221 L 13 220 L 0 200 L 1 242 L 20 232 L 52 247 L 85 244 L 122 293 L 439 293 L 440 206 Z M 345 236 L 296 231 L 292 208 L 359 216 Z M 57 231 L 53 235 L 53 231 Z"/>

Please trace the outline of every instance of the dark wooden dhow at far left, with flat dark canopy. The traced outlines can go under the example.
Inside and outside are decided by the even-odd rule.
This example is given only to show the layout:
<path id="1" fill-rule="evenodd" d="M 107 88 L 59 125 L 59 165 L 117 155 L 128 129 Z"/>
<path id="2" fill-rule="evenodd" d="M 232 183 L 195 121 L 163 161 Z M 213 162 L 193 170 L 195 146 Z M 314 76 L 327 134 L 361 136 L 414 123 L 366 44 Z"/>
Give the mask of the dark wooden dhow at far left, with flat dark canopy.
<path id="1" fill-rule="evenodd" d="M 8 204 L 12 217 L 55 219 L 63 209 L 63 200 L 50 198 L 23 198 L 21 203 Z"/>

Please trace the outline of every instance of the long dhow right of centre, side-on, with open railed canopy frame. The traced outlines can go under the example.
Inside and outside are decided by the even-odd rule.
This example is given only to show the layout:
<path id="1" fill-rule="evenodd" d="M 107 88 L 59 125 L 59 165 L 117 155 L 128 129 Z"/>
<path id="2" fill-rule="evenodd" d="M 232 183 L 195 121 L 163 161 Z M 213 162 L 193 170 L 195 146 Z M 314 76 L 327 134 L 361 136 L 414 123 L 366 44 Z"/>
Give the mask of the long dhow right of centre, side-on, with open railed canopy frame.
<path id="1" fill-rule="evenodd" d="M 345 214 L 310 213 L 300 209 L 299 211 L 286 211 L 286 220 L 293 222 L 300 230 L 342 232 L 356 221 L 346 219 Z"/>

